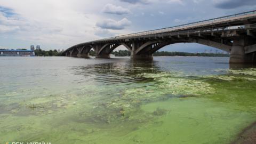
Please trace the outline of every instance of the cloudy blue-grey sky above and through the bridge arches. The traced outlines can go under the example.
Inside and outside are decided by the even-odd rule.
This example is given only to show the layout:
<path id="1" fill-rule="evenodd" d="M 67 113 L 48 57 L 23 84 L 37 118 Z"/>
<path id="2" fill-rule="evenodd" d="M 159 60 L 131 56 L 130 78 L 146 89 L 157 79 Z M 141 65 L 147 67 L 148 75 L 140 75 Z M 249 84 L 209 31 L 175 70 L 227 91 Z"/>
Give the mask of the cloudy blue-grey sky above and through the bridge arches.
<path id="1" fill-rule="evenodd" d="M 111 36 L 256 10 L 255 0 L 0 0 L 0 49 L 67 49 Z M 119 49 L 125 49 L 119 47 Z M 161 51 L 203 52 L 174 44 Z"/>

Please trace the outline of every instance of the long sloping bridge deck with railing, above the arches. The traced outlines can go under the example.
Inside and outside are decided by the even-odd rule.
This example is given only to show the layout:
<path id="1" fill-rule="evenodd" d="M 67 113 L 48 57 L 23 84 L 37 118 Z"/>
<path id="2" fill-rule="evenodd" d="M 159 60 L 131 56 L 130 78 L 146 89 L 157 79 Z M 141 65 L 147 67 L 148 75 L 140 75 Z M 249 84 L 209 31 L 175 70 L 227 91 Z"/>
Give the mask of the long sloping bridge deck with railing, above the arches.
<path id="1" fill-rule="evenodd" d="M 239 28 L 237 30 L 245 30 L 245 29 L 256 29 L 256 25 L 250 25 L 250 20 L 253 20 L 252 23 L 256 21 L 256 10 L 244 13 L 238 13 L 234 15 L 228 15 L 225 17 L 214 18 L 210 20 L 198 21 L 193 23 L 188 23 L 185 25 L 174 26 L 163 29 L 149 30 L 143 31 L 140 33 L 127 34 L 121 36 L 115 36 L 105 39 L 99 39 L 96 41 L 85 42 L 81 44 L 74 45 L 69 49 L 73 49 L 73 47 L 83 46 L 83 45 L 91 45 L 97 43 L 109 43 L 109 42 L 117 42 L 117 41 L 126 41 L 127 39 L 134 38 L 148 38 L 154 36 L 173 36 L 173 35 L 187 35 L 187 34 L 197 34 L 197 33 L 218 33 L 221 31 L 225 31 L 225 29 L 230 26 L 239 26 L 244 25 L 244 28 Z M 247 24 L 247 25 L 246 25 Z M 68 50 L 69 50 L 68 49 Z"/>

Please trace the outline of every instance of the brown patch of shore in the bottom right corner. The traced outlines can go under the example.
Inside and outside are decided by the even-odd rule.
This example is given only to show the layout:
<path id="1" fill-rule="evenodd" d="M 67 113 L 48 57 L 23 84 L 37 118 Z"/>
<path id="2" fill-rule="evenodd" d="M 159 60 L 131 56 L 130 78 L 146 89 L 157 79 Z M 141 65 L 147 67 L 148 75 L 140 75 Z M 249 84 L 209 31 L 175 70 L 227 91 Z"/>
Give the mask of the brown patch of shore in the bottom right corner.
<path id="1" fill-rule="evenodd" d="M 256 122 L 246 127 L 231 144 L 253 144 L 256 143 Z"/>

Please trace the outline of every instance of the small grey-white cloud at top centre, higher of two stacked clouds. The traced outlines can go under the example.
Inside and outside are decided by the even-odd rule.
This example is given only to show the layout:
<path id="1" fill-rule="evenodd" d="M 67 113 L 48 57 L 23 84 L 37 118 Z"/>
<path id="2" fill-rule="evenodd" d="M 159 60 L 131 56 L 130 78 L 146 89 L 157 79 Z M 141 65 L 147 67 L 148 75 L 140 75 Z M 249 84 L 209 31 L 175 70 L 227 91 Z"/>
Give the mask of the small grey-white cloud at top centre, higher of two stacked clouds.
<path id="1" fill-rule="evenodd" d="M 102 12 L 103 13 L 109 13 L 109 14 L 118 14 L 118 15 L 131 13 L 131 11 L 129 9 L 125 9 L 122 6 L 116 6 L 116 5 L 113 5 L 113 4 L 105 5 L 103 7 Z"/>

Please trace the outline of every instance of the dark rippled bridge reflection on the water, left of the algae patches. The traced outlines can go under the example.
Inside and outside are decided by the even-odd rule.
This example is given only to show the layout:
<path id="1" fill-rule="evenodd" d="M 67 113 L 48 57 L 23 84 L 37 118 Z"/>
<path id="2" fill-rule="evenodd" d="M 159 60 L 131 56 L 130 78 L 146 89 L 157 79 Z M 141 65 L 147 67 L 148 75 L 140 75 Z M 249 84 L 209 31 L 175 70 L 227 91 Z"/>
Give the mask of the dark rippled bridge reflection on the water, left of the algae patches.
<path id="1" fill-rule="evenodd" d="M 157 61 L 119 61 L 100 63 L 95 65 L 78 66 L 73 68 L 75 75 L 83 75 L 87 82 L 110 84 L 130 84 L 146 80 L 139 77 L 142 73 L 156 73 L 159 71 Z"/>

